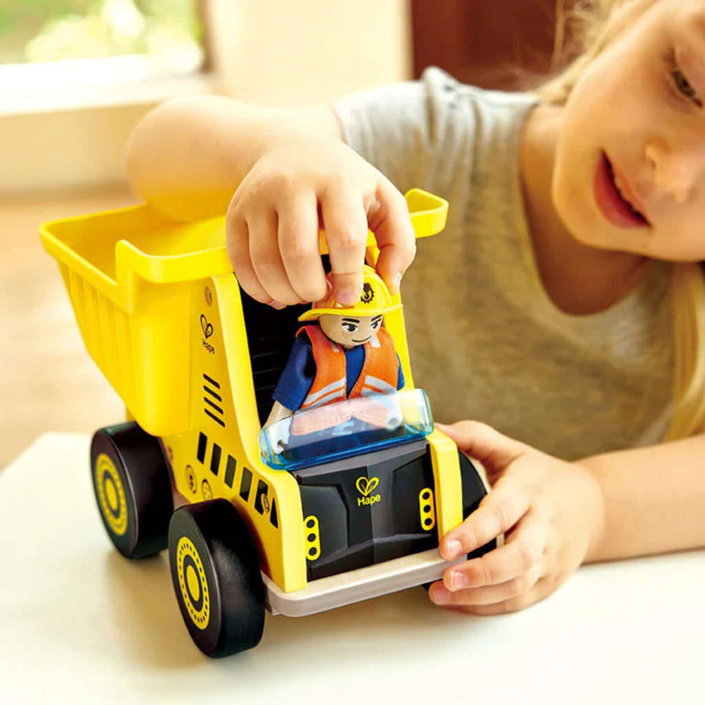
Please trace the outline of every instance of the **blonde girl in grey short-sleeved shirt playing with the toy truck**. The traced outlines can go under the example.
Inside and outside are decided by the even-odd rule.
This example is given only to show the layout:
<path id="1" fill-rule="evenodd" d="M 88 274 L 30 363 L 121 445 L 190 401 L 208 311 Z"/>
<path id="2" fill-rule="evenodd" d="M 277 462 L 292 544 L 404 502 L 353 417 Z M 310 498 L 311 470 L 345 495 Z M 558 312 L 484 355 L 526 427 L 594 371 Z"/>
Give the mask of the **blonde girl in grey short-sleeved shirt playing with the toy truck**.
<path id="1" fill-rule="evenodd" d="M 155 208 L 227 212 L 259 301 L 324 297 L 319 222 L 343 304 L 368 226 L 393 291 L 415 259 L 415 381 L 492 485 L 439 550 L 505 534 L 429 595 L 477 614 L 534 603 L 587 561 L 705 546 L 705 0 L 593 0 L 586 17 L 583 54 L 534 94 L 430 69 L 333 109 L 193 97 L 128 147 Z M 451 205 L 416 257 L 414 186 Z"/>

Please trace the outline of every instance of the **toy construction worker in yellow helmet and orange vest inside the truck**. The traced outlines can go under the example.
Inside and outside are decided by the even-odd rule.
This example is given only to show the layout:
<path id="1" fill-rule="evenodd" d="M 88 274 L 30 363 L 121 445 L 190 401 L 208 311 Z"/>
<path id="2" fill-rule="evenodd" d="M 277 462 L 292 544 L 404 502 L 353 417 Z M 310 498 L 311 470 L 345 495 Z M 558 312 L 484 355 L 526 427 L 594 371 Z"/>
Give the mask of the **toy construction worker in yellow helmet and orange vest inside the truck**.
<path id="1" fill-rule="evenodd" d="M 384 314 L 400 307 L 392 303 L 374 269 L 365 266 L 357 304 L 339 305 L 331 290 L 328 298 L 299 317 L 311 322 L 296 333 L 265 424 L 277 429 L 276 453 L 288 456 L 295 446 L 304 445 L 311 453 L 313 444 L 317 455 L 334 452 L 345 436 L 398 426 L 398 406 L 393 397 L 382 395 L 402 388 L 404 375 L 382 321 Z M 290 424 L 278 423 L 288 417 Z M 309 438 L 306 444 L 290 442 L 294 436 Z"/>

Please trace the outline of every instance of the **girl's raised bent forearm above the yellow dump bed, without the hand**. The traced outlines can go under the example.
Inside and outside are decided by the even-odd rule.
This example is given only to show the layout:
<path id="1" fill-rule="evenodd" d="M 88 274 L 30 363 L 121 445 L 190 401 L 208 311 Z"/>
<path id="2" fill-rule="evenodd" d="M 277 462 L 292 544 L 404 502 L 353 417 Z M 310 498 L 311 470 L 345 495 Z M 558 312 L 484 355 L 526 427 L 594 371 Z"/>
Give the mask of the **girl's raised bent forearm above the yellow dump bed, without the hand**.
<path id="1" fill-rule="evenodd" d="M 137 125 L 125 170 L 137 195 L 172 218 L 221 215 L 268 146 L 302 132 L 341 137 L 325 106 L 268 109 L 219 96 L 174 99 Z"/>

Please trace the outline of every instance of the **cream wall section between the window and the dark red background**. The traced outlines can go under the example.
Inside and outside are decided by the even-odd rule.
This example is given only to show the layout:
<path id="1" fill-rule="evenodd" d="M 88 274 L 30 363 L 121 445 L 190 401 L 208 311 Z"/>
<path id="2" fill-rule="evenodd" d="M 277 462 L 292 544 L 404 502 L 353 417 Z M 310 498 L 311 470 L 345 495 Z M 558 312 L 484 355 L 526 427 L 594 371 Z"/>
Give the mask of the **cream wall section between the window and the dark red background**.
<path id="1" fill-rule="evenodd" d="M 212 0 L 226 92 L 266 105 L 311 104 L 408 78 L 408 4 Z"/>

